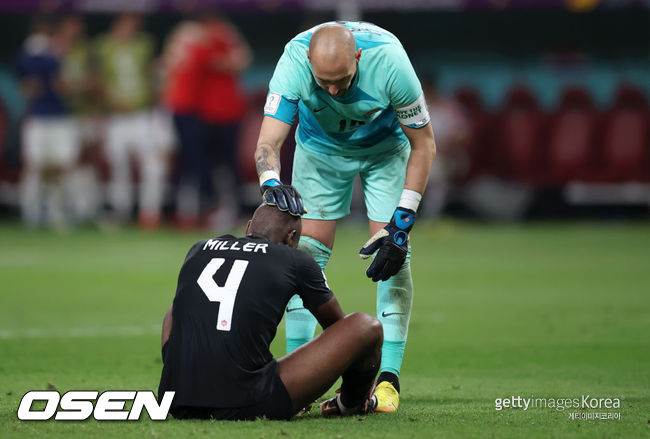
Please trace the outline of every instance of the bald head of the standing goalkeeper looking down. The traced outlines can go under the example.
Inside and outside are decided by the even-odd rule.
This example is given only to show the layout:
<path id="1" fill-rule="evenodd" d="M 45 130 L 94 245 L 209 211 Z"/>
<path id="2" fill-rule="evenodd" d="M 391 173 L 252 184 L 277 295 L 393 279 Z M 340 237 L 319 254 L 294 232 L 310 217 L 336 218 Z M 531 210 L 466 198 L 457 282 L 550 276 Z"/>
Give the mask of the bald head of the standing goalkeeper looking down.
<path id="1" fill-rule="evenodd" d="M 307 55 L 323 90 L 334 97 L 343 96 L 350 88 L 361 57 L 361 49 L 357 50 L 350 29 L 340 24 L 320 26 L 311 36 Z"/>

